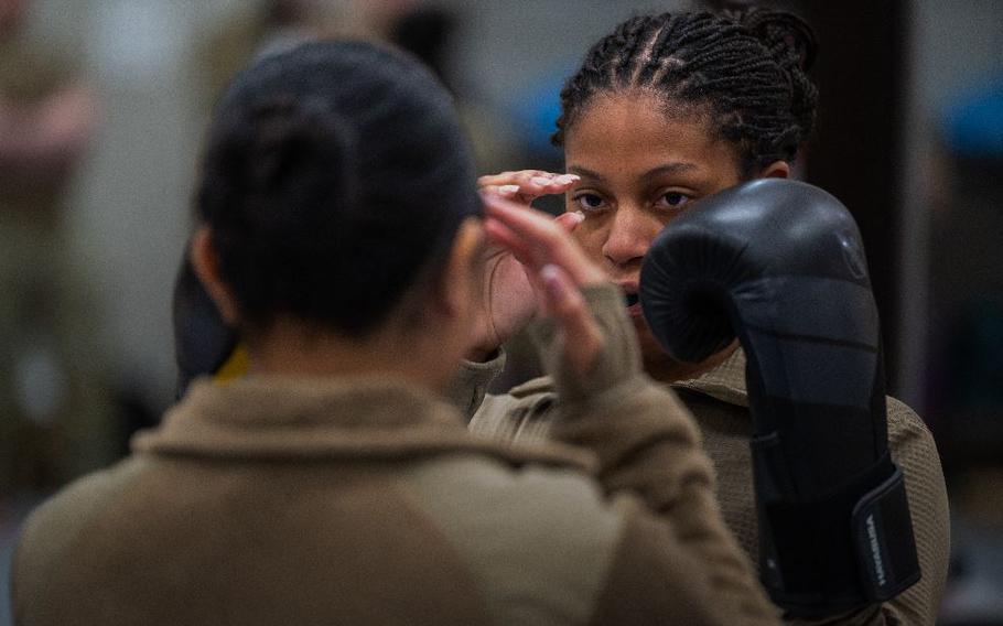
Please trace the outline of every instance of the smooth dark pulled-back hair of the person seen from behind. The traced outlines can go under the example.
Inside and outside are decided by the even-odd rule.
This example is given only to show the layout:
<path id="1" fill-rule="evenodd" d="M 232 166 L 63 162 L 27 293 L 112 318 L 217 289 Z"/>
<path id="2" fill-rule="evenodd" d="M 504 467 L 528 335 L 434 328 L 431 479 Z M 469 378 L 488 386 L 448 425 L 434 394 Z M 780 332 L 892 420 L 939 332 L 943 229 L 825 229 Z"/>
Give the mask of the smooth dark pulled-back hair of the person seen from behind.
<path id="1" fill-rule="evenodd" d="M 482 212 L 452 98 L 403 54 L 317 42 L 242 72 L 195 198 L 241 323 L 378 328 Z"/>

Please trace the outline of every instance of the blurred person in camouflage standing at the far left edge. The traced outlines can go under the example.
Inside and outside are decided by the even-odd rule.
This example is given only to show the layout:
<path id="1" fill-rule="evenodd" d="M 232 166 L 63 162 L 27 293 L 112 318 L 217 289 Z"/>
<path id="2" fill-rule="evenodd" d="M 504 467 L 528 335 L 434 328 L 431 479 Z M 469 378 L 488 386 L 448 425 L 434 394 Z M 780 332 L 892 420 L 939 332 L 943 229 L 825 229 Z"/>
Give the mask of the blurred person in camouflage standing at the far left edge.
<path id="1" fill-rule="evenodd" d="M 67 54 L 29 36 L 28 10 L 0 0 L 0 496 L 53 489 L 111 461 L 117 443 L 62 240 L 97 100 Z"/>

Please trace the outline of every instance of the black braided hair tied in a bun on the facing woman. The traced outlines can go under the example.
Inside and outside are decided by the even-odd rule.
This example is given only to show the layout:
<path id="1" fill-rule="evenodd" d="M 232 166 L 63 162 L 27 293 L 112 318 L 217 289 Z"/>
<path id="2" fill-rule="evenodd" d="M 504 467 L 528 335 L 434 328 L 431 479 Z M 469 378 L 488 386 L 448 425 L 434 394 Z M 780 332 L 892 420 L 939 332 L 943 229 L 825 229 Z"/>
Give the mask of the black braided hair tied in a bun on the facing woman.
<path id="1" fill-rule="evenodd" d="M 818 90 L 806 72 L 816 48 L 808 24 L 783 11 L 632 18 L 592 46 L 568 79 L 551 140 L 563 145 L 595 94 L 643 89 L 667 108 L 709 112 L 751 175 L 792 160 L 810 134 Z"/>

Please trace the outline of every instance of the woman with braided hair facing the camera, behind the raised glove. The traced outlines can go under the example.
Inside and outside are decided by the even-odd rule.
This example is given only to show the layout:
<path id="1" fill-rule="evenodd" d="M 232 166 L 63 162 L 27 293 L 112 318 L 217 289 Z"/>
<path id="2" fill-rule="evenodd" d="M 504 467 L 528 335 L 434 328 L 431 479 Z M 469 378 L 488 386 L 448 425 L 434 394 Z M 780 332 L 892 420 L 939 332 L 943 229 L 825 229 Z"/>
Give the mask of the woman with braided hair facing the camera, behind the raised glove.
<path id="1" fill-rule="evenodd" d="M 483 176 L 495 204 L 564 194 L 559 224 L 623 290 L 647 374 L 671 385 L 701 427 L 725 520 L 753 561 L 759 537 L 748 441 L 745 355 L 733 343 L 703 363 L 673 360 L 641 315 L 641 261 L 656 235 L 694 202 L 759 177 L 788 177 L 812 131 L 809 79 L 816 41 L 799 18 L 775 11 L 632 18 L 600 40 L 561 93 L 553 142 L 567 173 Z M 478 348 L 456 388 L 471 429 L 542 441 L 561 410 L 550 379 L 504 396 L 484 389 L 500 371 L 499 346 L 535 313 L 519 261 L 489 259 Z M 932 624 L 947 574 L 948 509 L 935 443 L 919 418 L 888 399 L 888 445 L 909 496 L 921 580 L 884 603 L 824 618 L 839 624 Z M 834 620 L 834 622 L 833 622 Z"/>

